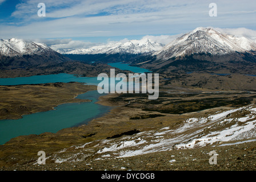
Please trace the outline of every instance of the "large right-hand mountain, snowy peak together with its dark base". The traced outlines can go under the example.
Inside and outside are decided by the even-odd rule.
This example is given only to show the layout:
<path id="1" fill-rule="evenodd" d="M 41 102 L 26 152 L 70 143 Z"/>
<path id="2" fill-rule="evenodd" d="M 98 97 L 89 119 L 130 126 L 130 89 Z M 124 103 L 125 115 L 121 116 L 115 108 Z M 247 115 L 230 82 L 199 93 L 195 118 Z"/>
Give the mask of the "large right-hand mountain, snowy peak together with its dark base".
<path id="1" fill-rule="evenodd" d="M 256 44 L 253 40 L 199 27 L 153 53 L 149 60 L 137 62 L 137 65 L 160 71 L 223 68 L 230 71 L 244 64 L 248 66 L 251 63 L 254 67 L 255 60 Z"/>

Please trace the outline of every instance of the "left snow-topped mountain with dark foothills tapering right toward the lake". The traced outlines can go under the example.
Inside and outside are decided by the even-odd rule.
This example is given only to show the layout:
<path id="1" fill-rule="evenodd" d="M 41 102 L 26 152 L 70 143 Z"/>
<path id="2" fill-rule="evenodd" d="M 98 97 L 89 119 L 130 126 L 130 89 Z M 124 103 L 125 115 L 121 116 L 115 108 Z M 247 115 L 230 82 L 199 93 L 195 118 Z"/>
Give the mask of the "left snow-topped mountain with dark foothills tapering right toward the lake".
<path id="1" fill-rule="evenodd" d="M 109 72 L 107 64 L 86 64 L 54 51 L 42 43 L 22 39 L 0 39 L 0 77 L 24 77 L 70 73 L 97 76 Z"/>

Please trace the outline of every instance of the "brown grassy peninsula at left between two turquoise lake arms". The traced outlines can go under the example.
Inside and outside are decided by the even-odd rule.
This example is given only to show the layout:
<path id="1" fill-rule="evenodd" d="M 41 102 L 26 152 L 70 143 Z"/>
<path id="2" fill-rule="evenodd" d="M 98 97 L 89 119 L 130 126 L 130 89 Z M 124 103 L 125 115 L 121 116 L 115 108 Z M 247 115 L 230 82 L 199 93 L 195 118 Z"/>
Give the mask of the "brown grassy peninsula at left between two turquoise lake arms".
<path id="1" fill-rule="evenodd" d="M 0 86 L 0 122 L 4 119 L 21 119 L 23 115 L 54 110 L 62 104 L 90 102 L 76 98 L 89 90 L 95 90 L 95 86 L 78 82 Z M 40 97 L 37 98 L 35 93 Z M 19 103 L 18 108 L 12 99 Z"/>

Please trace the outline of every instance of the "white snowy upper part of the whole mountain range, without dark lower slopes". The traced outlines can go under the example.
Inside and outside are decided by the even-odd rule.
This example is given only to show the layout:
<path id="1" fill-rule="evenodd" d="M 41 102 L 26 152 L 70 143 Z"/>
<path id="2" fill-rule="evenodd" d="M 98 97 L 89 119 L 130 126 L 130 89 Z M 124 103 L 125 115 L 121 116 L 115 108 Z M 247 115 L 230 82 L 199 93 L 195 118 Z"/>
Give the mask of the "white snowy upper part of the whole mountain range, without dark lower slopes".
<path id="1" fill-rule="evenodd" d="M 173 57 L 184 57 L 192 54 L 208 53 L 225 55 L 234 52 L 256 51 L 256 43 L 245 37 L 227 35 L 214 28 L 199 27 L 173 40 L 166 46 L 150 39 L 129 40 L 127 42 L 109 43 L 103 46 L 79 49 L 58 49 L 54 51 L 43 43 L 35 43 L 22 39 L 0 39 L 2 56 L 45 55 L 46 53 L 62 53 L 65 55 L 96 55 L 96 54 L 151 54 L 158 59 L 168 60 Z"/>

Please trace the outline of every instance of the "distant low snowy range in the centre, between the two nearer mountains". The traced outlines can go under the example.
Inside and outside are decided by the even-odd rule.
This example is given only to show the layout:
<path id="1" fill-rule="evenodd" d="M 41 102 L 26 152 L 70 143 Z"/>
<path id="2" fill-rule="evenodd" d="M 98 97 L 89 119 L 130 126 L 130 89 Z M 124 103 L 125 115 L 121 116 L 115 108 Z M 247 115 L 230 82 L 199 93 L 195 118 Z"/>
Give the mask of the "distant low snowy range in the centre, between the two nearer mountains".
<path id="1" fill-rule="evenodd" d="M 162 44 L 155 43 L 147 38 L 141 40 L 129 40 L 125 43 L 109 43 L 104 46 L 94 46 L 91 48 L 80 48 L 80 49 L 67 49 L 57 50 L 59 53 L 65 54 L 115 54 L 115 53 L 153 53 L 155 51 L 161 50 Z"/>

